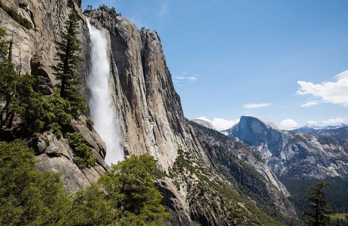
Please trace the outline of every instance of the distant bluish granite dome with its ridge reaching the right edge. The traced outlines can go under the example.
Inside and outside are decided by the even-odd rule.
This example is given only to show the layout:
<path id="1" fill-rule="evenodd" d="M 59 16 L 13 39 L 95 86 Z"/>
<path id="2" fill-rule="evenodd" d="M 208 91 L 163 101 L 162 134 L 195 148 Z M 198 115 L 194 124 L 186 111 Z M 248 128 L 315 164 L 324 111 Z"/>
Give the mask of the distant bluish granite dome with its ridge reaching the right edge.
<path id="1" fill-rule="evenodd" d="M 300 131 L 279 130 L 261 117 L 242 116 L 228 132 L 261 152 L 277 175 L 294 179 L 348 176 L 348 143 Z"/>

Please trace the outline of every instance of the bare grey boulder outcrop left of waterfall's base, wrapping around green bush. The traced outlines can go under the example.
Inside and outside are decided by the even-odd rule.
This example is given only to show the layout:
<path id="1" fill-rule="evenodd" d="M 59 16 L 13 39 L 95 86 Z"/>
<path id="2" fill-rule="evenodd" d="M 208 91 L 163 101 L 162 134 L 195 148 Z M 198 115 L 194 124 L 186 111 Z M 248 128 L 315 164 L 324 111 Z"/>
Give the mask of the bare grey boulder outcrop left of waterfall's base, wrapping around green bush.
<path id="1" fill-rule="evenodd" d="M 84 121 L 84 118 L 81 120 Z M 101 157 L 105 150 L 105 144 L 95 131 L 88 132 L 87 127 L 81 125 L 82 123 L 73 120 L 70 126 L 72 131 L 80 131 L 88 145 L 92 147 L 92 156 L 96 158 L 96 161 L 91 168 L 79 169 L 73 161 L 74 153 L 68 141 L 63 137 L 57 138 L 53 131 L 40 134 L 30 141 L 30 146 L 34 148 L 38 160 L 36 167 L 44 171 L 62 173 L 64 186 L 71 193 L 95 183 L 110 169 Z"/>

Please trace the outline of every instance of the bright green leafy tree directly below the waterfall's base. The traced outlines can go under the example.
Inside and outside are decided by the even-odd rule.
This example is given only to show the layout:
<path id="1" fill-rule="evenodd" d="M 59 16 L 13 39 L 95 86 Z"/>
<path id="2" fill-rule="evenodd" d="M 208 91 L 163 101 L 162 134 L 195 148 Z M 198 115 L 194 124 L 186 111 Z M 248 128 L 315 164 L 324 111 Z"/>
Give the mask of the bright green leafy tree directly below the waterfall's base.
<path id="1" fill-rule="evenodd" d="M 163 225 L 165 218 L 171 218 L 160 204 L 163 197 L 152 182 L 155 171 L 153 156 L 132 155 L 112 164 L 111 172 L 99 179 L 112 207 L 121 210 L 121 225 Z"/>

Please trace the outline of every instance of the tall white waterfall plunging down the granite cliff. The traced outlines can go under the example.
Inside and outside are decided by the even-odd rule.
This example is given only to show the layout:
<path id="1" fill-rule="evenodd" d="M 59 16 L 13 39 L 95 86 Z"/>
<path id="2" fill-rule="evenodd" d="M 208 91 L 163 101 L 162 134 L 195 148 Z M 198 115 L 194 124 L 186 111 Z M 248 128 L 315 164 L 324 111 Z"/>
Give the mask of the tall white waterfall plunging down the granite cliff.
<path id="1" fill-rule="evenodd" d="M 90 92 L 89 113 L 94 129 L 106 144 L 105 162 L 109 165 L 124 160 L 115 111 L 109 91 L 109 61 L 105 35 L 87 21 L 91 42 L 91 73 L 87 77 Z"/>

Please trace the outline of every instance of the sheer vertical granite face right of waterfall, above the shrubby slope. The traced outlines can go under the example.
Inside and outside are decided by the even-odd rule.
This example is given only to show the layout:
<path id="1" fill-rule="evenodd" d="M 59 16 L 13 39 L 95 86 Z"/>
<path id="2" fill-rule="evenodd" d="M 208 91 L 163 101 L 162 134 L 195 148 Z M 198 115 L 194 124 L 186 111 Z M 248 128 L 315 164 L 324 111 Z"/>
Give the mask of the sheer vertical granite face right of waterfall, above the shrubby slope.
<path id="1" fill-rule="evenodd" d="M 125 154 L 148 153 L 168 170 L 178 145 L 200 148 L 185 126 L 157 33 L 138 31 L 128 19 L 103 7 L 86 14 L 109 40 L 111 95 L 119 115 Z"/>

